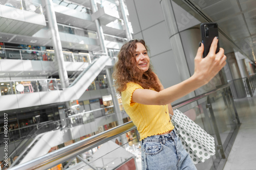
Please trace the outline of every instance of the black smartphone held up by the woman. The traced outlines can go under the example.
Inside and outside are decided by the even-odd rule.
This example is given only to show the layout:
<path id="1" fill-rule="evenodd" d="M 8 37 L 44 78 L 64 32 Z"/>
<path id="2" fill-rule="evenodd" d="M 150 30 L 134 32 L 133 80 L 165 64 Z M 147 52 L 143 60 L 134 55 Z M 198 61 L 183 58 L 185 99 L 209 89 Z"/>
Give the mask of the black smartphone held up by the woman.
<path id="1" fill-rule="evenodd" d="M 214 40 L 215 37 L 219 37 L 218 34 L 218 24 L 217 23 L 201 23 L 200 25 L 200 31 L 201 31 L 201 37 L 202 37 L 202 43 L 204 44 L 204 53 L 203 58 L 205 58 L 209 51 L 210 51 L 210 45 L 212 40 Z M 216 53 L 220 51 L 220 45 L 218 41 Z"/>

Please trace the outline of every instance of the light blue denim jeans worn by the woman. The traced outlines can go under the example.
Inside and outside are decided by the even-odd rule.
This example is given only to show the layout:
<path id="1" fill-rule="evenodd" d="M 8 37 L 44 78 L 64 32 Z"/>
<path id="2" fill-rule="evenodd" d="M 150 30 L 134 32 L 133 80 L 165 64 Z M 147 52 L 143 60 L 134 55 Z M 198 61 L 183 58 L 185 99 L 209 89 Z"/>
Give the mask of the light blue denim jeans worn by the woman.
<path id="1" fill-rule="evenodd" d="M 141 141 L 142 169 L 197 169 L 174 130 Z"/>

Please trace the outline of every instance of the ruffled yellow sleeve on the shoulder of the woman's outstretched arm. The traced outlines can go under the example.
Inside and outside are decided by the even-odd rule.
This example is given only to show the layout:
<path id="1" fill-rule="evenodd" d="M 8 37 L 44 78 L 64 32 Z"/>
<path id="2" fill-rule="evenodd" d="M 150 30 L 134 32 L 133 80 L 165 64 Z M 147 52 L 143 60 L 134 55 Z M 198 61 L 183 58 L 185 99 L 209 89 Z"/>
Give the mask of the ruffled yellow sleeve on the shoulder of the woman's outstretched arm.
<path id="1" fill-rule="evenodd" d="M 121 93 L 122 103 L 124 105 L 133 107 L 136 104 L 136 103 L 132 103 L 131 101 L 132 101 L 133 92 L 138 88 L 143 89 L 143 87 L 141 87 L 136 83 L 133 83 L 133 82 L 127 83 L 127 88 Z"/>

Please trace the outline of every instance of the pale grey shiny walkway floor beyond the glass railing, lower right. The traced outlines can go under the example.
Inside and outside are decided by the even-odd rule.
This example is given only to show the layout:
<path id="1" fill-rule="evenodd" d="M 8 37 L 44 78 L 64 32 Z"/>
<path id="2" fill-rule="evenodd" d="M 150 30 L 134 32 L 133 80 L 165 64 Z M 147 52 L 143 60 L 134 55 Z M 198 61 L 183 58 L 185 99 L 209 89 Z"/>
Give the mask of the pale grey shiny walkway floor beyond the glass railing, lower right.
<path id="1" fill-rule="evenodd" d="M 224 170 L 256 169 L 256 94 L 235 100 L 241 122 Z"/>

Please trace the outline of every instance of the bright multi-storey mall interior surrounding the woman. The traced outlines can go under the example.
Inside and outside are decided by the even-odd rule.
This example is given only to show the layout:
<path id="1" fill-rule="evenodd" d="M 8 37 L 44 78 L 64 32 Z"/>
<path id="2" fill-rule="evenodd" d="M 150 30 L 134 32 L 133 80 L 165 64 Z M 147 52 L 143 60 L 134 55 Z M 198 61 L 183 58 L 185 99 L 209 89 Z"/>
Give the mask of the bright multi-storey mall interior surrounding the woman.
<path id="1" fill-rule="evenodd" d="M 256 169 L 254 0 L 0 0 L 0 169 L 142 169 L 119 50 L 144 39 L 167 88 L 194 74 L 204 22 L 227 64 L 173 109 L 214 137 L 197 169 Z"/>

